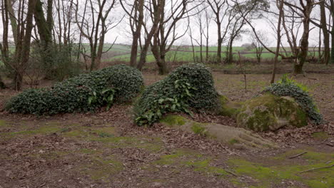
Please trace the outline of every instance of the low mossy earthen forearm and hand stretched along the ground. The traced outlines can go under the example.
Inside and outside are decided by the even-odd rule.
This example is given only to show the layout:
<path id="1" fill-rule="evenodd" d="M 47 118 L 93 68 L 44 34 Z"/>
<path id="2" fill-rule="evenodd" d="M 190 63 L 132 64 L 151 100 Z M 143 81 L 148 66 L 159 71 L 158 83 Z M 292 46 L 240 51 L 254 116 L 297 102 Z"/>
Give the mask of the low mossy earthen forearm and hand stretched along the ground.
<path id="1" fill-rule="evenodd" d="M 221 142 L 223 145 L 238 149 L 259 150 L 277 147 L 273 142 L 265 140 L 260 135 L 241 127 L 230 127 L 217 123 L 201 123 L 188 120 L 180 115 L 166 115 L 160 122 L 168 127 L 208 137 Z"/>

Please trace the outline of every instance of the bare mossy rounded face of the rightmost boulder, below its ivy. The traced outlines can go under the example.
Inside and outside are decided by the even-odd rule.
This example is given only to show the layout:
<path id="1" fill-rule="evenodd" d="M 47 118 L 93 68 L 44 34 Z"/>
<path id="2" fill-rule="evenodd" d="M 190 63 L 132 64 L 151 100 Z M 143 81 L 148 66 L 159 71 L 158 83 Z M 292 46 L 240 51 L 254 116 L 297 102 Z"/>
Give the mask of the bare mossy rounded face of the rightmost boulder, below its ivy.
<path id="1" fill-rule="evenodd" d="M 308 125 L 308 115 L 293 98 L 265 93 L 243 104 L 237 124 L 258 132 L 286 125 L 303 127 Z"/>

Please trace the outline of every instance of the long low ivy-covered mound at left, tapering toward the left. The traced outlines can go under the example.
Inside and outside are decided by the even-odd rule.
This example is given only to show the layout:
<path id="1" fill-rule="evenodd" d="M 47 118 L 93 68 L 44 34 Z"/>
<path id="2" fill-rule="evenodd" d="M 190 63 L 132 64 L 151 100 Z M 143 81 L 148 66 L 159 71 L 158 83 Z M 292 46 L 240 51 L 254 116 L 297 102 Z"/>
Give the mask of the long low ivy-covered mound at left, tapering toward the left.
<path id="1" fill-rule="evenodd" d="M 10 113 L 54 115 L 88 112 L 131 100 L 143 87 L 143 76 L 136 68 L 111 66 L 82 74 L 52 88 L 29 89 L 11 98 L 5 109 Z"/>

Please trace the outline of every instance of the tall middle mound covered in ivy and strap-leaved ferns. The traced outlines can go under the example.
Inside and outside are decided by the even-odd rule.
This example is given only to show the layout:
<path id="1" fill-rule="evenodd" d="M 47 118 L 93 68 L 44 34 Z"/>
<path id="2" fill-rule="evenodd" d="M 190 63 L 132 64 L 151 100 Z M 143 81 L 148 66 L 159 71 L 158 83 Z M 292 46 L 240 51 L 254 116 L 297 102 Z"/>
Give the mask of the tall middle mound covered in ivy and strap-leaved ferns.
<path id="1" fill-rule="evenodd" d="M 137 125 L 151 125 L 163 114 L 216 110 L 218 94 L 211 71 L 198 63 L 176 68 L 165 79 L 150 85 L 134 107 Z"/>

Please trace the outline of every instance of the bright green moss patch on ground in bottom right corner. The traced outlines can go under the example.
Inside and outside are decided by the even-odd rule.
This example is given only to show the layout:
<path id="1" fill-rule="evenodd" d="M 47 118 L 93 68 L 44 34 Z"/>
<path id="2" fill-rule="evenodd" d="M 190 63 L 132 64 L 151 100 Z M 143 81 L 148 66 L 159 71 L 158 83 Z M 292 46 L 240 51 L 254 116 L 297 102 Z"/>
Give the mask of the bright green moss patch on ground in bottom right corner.
<path id="1" fill-rule="evenodd" d="M 295 152 L 296 151 L 294 151 L 294 153 Z M 247 175 L 260 180 L 260 183 L 258 183 L 256 187 L 270 187 L 272 184 L 280 184 L 280 182 L 284 179 L 303 182 L 303 184 L 306 184 L 311 188 L 333 187 L 333 169 L 324 168 L 316 169 L 310 172 L 303 172 L 307 169 L 327 167 L 334 164 L 334 162 L 330 162 L 329 164 L 325 164 L 324 162 L 324 159 L 329 159 L 330 154 L 323 154 L 318 152 L 308 152 L 307 154 L 303 155 L 304 159 L 310 159 L 315 157 L 317 160 L 309 160 L 310 163 L 307 165 L 284 163 L 278 164 L 275 162 L 274 165 L 268 166 L 257 162 L 248 162 L 247 160 L 243 160 L 242 158 L 228 160 L 228 163 L 231 164 L 231 166 L 235 169 L 236 174 Z M 290 152 L 285 153 L 284 155 L 290 156 Z M 331 157 L 333 159 L 333 155 L 331 155 Z M 321 160 L 321 162 L 318 161 L 320 158 L 323 159 Z M 284 157 L 283 160 L 289 159 L 287 157 Z"/>

